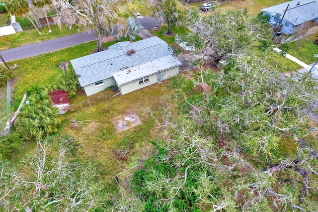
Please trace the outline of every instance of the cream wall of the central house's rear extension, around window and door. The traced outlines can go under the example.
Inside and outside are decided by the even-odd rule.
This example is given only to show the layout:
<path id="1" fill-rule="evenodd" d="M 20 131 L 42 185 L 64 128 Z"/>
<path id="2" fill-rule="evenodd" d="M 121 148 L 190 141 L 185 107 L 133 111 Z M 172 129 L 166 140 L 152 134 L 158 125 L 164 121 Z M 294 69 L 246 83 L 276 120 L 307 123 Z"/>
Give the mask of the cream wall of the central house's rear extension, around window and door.
<path id="1" fill-rule="evenodd" d="M 174 67 L 165 71 L 162 71 L 162 80 L 166 80 L 174 75 L 177 75 L 179 73 L 179 67 Z M 130 83 L 124 84 L 122 86 L 118 86 L 119 91 L 121 92 L 121 95 L 128 94 L 130 92 L 136 91 L 138 89 L 145 88 L 147 86 L 153 85 L 157 83 L 157 72 L 155 74 L 152 74 L 149 76 L 149 82 L 138 84 L 138 79 L 135 81 L 132 81 Z"/>

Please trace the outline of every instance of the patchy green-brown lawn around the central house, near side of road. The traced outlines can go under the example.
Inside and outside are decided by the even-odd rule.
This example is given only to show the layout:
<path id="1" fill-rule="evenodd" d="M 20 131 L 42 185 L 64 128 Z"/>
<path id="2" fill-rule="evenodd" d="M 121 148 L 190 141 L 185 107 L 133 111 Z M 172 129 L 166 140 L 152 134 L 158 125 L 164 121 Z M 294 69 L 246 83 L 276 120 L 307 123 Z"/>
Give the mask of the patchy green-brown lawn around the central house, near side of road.
<path id="1" fill-rule="evenodd" d="M 108 44 L 104 46 L 108 46 Z M 15 104 L 13 108 L 16 109 L 27 88 L 32 85 L 45 86 L 53 82 L 55 77 L 62 72 L 59 67 L 62 61 L 69 61 L 90 54 L 95 48 L 95 42 L 88 42 L 28 60 L 14 61 L 19 66 L 14 70 L 15 80 L 12 98 Z M 71 67 L 70 63 L 69 66 Z M 130 94 L 113 98 L 111 96 L 114 93 L 108 89 L 104 93 L 95 95 L 106 94 L 107 101 L 85 110 L 69 111 L 61 116 L 63 121 L 60 130 L 79 138 L 81 146 L 79 159 L 84 162 L 90 161 L 98 167 L 100 177 L 108 191 L 118 189 L 113 178 L 115 174 L 140 163 L 153 151 L 153 146 L 148 142 L 148 139 L 158 138 L 160 132 L 156 129 L 154 120 L 146 109 L 150 109 L 155 116 L 160 115 L 159 105 L 161 102 L 165 102 L 164 97 L 169 96 L 172 92 L 172 90 L 166 88 L 166 84 L 167 81 L 163 81 Z M 79 92 L 70 101 L 71 104 L 75 104 L 93 97 L 85 97 Z M 136 113 L 141 120 L 141 124 L 117 133 L 113 121 L 130 113 Z M 89 121 L 83 122 L 79 129 L 75 129 L 71 128 L 70 120 L 66 118 Z M 28 152 L 34 151 L 36 149 L 34 143 L 28 141 L 25 145 L 22 145 L 19 151 L 21 154 L 14 154 L 11 158 L 12 162 L 19 163 L 19 160 L 26 156 Z M 129 156 L 125 160 L 119 159 L 114 153 L 115 151 L 125 150 L 127 150 Z"/>

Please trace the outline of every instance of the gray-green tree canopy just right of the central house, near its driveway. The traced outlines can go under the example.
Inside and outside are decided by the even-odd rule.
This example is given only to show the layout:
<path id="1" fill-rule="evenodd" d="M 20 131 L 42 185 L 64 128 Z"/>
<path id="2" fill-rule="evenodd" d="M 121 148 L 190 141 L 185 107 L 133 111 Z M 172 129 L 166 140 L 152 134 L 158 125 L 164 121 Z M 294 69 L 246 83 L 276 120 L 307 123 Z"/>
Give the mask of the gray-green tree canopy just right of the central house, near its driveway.
<path id="1" fill-rule="evenodd" d="M 195 13 L 195 15 L 194 15 Z M 187 13 L 188 24 L 196 27 L 196 33 L 204 40 L 204 60 L 214 65 L 229 56 L 236 57 L 245 49 L 270 45 L 271 34 L 268 24 L 257 18 L 249 17 L 246 9 L 214 9 L 205 16 L 196 15 L 197 10 Z M 200 39 L 183 41 L 189 46 L 196 46 Z M 268 41 L 268 42 L 265 42 Z M 259 44 L 260 43 L 260 44 Z"/>

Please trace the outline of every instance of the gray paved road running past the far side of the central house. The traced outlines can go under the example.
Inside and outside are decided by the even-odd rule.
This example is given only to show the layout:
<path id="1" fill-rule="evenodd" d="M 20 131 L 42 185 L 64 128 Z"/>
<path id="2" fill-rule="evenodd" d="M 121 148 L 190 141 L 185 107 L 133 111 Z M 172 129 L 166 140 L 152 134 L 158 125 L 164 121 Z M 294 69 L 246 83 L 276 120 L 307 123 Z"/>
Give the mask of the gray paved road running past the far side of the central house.
<path id="1" fill-rule="evenodd" d="M 149 29 L 160 25 L 160 22 L 152 17 L 137 17 L 136 20 L 139 21 L 145 29 Z M 117 26 L 115 26 L 114 31 L 111 35 L 115 35 L 116 33 Z M 28 58 L 39 54 L 44 54 L 59 49 L 64 49 L 70 46 L 75 46 L 80 43 L 85 43 L 92 40 L 95 40 L 95 31 L 91 31 L 90 33 L 81 32 L 78 34 L 73 34 L 52 40 L 2 50 L 0 51 L 0 54 L 3 57 L 4 61 L 7 62 L 12 60 Z"/>

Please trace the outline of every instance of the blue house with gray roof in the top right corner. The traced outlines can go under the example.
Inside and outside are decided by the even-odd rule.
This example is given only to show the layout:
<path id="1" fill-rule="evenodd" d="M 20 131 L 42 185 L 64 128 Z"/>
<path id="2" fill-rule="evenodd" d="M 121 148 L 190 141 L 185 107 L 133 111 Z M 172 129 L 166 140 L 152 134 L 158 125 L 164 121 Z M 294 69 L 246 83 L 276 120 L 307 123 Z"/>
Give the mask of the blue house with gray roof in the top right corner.
<path id="1" fill-rule="evenodd" d="M 268 22 L 272 25 L 282 24 L 281 32 L 287 35 L 301 30 L 306 21 L 318 22 L 318 0 L 292 0 L 264 8 L 262 11 L 263 15 L 270 16 Z"/>

